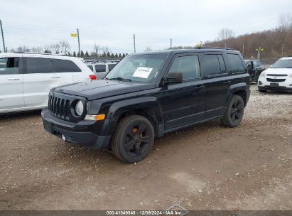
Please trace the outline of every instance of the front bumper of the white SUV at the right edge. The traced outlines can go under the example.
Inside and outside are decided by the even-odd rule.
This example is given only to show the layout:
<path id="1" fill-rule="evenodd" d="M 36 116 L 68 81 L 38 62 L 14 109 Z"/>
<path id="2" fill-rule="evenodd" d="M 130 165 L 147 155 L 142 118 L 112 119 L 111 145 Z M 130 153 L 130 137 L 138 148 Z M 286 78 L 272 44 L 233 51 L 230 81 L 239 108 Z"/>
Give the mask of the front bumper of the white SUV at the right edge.
<path id="1" fill-rule="evenodd" d="M 278 77 L 278 79 L 283 77 Z M 269 82 L 266 77 L 259 77 L 257 85 L 259 90 L 276 90 L 290 92 L 292 90 L 292 77 L 285 77 L 284 82 Z M 274 86 L 273 86 L 274 85 Z"/>

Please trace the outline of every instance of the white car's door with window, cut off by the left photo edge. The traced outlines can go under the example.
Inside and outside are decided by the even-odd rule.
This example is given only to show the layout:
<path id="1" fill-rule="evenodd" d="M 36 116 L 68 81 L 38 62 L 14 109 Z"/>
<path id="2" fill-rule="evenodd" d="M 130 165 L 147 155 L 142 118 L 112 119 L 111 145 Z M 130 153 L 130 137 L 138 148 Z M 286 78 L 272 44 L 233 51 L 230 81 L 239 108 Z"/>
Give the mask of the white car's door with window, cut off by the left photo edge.
<path id="1" fill-rule="evenodd" d="M 0 58 L 0 112 L 24 107 L 21 58 Z"/>

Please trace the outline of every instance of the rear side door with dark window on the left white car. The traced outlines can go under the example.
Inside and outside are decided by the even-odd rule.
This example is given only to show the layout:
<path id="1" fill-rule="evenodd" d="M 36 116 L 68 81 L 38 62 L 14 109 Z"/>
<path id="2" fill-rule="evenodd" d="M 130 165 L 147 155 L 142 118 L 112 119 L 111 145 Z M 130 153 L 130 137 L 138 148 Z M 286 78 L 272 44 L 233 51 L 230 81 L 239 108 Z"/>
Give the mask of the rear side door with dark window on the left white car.
<path id="1" fill-rule="evenodd" d="M 26 107 L 46 107 L 48 92 L 64 84 L 60 72 L 55 72 L 50 58 L 23 58 L 23 92 Z"/>

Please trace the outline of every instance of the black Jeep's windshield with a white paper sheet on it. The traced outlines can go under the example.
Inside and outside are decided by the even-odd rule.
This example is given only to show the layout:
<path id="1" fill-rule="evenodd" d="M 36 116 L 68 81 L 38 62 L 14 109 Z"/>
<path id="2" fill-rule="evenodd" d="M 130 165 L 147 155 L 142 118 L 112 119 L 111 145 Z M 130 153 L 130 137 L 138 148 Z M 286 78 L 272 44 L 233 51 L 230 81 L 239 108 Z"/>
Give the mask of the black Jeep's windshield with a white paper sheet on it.
<path id="1" fill-rule="evenodd" d="M 107 74 L 106 79 L 153 82 L 166 56 L 166 54 L 127 55 Z"/>

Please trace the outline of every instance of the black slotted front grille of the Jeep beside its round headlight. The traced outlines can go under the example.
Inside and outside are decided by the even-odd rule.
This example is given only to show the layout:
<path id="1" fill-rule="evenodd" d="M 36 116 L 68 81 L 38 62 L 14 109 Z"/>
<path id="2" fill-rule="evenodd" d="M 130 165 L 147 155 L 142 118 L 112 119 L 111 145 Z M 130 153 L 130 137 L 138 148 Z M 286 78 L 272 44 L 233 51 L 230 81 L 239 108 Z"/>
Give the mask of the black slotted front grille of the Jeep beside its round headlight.
<path id="1" fill-rule="evenodd" d="M 50 114 L 55 117 L 68 120 L 70 117 L 70 100 L 49 95 L 48 109 Z"/>

